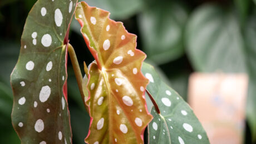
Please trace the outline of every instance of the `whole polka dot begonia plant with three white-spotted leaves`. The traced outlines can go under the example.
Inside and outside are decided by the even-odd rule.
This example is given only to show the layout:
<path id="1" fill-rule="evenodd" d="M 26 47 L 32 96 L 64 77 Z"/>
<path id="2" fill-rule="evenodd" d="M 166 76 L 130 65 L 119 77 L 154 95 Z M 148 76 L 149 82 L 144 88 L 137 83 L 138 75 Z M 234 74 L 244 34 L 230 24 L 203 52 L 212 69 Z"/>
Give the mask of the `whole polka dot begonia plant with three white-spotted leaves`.
<path id="1" fill-rule="evenodd" d="M 74 13 L 95 58 L 83 79 L 68 44 Z M 67 53 L 91 117 L 86 143 L 142 144 L 147 126 L 149 143 L 209 143 L 186 102 L 149 64 L 142 67 L 146 54 L 136 49 L 136 35 L 109 14 L 76 0 L 38 0 L 29 12 L 11 74 L 12 123 L 21 143 L 72 143 Z M 146 104 L 145 91 L 155 107 Z"/>

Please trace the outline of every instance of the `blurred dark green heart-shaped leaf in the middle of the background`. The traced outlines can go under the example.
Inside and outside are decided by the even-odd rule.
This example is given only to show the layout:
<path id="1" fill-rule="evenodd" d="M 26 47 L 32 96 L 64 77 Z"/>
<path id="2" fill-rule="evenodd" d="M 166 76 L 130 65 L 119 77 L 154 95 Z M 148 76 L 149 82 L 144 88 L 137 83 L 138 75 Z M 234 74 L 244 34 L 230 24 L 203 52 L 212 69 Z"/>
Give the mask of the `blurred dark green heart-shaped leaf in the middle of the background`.
<path id="1" fill-rule="evenodd" d="M 161 64 L 184 54 L 183 30 L 188 14 L 173 2 L 154 3 L 140 14 L 139 28 L 147 58 Z"/>

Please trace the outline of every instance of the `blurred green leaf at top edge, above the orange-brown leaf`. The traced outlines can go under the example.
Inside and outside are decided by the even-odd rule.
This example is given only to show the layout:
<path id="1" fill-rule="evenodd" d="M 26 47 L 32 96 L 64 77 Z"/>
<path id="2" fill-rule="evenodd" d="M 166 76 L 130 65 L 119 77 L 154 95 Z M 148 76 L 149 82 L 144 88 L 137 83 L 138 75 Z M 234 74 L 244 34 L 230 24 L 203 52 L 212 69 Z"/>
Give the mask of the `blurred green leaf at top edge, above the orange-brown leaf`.
<path id="1" fill-rule="evenodd" d="M 142 0 L 85 0 L 90 6 L 105 9 L 112 19 L 127 19 L 141 10 Z"/>

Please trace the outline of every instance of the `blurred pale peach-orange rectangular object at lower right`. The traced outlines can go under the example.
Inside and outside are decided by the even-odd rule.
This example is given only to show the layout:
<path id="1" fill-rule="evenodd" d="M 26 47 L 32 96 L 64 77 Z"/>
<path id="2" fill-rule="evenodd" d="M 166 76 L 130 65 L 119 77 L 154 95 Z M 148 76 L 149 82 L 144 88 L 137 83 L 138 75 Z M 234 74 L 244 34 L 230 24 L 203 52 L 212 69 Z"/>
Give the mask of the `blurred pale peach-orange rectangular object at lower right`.
<path id="1" fill-rule="evenodd" d="M 194 73 L 188 101 L 211 144 L 243 143 L 246 74 Z"/>

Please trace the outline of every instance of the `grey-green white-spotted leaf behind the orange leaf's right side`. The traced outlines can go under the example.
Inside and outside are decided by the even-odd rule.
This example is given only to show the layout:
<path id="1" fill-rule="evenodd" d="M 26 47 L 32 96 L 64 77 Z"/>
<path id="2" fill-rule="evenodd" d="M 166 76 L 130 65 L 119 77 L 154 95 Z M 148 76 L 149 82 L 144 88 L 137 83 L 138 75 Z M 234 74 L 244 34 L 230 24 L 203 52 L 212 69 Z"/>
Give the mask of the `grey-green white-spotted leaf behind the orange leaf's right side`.
<path id="1" fill-rule="evenodd" d="M 142 73 L 150 80 L 147 90 L 161 112 L 157 114 L 155 107 L 151 109 L 154 119 L 148 126 L 149 143 L 209 143 L 193 110 L 176 91 L 161 80 L 154 67 L 143 63 Z"/>

